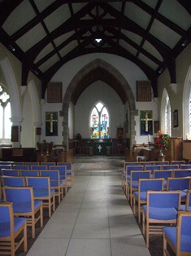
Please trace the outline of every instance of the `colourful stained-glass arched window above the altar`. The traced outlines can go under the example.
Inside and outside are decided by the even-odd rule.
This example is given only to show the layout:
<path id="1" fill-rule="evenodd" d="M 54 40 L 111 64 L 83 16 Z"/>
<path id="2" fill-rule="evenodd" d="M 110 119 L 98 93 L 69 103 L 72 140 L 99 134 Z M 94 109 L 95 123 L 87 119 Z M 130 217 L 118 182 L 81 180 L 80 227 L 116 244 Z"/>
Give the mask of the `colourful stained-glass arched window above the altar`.
<path id="1" fill-rule="evenodd" d="M 93 107 L 90 116 L 90 138 L 108 139 L 109 133 L 109 114 L 106 107 L 99 102 Z"/>

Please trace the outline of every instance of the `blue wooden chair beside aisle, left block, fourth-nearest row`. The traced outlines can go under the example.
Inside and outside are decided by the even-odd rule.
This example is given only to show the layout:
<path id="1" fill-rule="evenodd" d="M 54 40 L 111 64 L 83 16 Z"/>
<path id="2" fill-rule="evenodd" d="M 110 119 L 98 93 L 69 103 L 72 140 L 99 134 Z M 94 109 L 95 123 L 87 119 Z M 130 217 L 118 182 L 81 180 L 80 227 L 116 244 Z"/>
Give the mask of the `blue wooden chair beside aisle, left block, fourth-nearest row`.
<path id="1" fill-rule="evenodd" d="M 63 199 L 64 183 L 59 178 L 59 170 L 40 170 L 40 176 L 50 177 L 50 188 L 54 189 L 55 196 L 58 196 L 60 203 Z"/>

